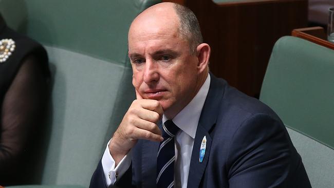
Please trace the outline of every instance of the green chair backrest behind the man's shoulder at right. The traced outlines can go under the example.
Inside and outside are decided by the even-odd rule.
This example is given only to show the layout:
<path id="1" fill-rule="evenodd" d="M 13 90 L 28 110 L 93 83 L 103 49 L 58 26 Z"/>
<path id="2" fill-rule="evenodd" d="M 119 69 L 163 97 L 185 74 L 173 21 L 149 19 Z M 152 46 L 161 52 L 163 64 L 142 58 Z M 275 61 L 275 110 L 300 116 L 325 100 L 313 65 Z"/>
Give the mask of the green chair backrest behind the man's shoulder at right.
<path id="1" fill-rule="evenodd" d="M 334 187 L 333 72 L 333 50 L 285 36 L 272 50 L 261 89 L 260 100 L 290 128 L 313 187 Z"/>

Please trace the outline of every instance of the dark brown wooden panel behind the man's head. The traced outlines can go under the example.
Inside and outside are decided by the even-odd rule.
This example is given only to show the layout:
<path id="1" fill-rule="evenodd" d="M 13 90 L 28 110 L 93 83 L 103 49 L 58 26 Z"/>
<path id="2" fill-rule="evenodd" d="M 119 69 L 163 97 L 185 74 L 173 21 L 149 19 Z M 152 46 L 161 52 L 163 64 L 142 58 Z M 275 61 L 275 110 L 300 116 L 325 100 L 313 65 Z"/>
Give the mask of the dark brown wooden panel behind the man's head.
<path id="1" fill-rule="evenodd" d="M 307 0 L 165 2 L 181 2 L 194 11 L 203 38 L 212 47 L 211 71 L 255 97 L 261 89 L 275 41 L 290 35 L 292 29 L 307 25 Z"/>

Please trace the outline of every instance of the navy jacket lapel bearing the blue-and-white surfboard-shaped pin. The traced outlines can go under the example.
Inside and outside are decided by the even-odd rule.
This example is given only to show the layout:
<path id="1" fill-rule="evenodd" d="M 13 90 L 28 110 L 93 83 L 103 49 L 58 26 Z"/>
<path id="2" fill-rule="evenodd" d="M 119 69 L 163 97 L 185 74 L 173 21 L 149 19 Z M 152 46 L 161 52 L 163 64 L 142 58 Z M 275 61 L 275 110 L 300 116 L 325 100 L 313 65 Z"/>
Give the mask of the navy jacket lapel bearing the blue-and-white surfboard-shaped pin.
<path id="1" fill-rule="evenodd" d="M 206 102 L 203 106 L 201 116 L 198 122 L 193 151 L 190 161 L 188 176 L 188 187 L 199 187 L 200 181 L 205 172 L 212 145 L 210 136 L 211 130 L 217 120 L 217 111 L 224 94 L 224 84 L 210 73 L 211 81 Z M 199 162 L 199 151 L 203 137 L 207 138 L 206 152 L 202 162 Z"/>

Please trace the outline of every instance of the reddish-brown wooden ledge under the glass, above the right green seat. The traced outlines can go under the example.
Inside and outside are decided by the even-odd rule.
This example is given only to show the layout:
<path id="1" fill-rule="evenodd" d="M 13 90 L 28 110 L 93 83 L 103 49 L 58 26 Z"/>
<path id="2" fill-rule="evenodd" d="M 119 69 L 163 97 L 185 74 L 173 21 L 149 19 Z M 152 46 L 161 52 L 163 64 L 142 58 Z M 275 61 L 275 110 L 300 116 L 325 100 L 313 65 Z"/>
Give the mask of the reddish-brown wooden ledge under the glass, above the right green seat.
<path id="1" fill-rule="evenodd" d="M 310 42 L 325 46 L 334 50 L 334 44 L 326 40 L 327 36 L 322 27 L 308 27 L 301 29 L 293 29 L 292 36 L 300 37 Z"/>

